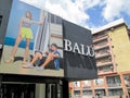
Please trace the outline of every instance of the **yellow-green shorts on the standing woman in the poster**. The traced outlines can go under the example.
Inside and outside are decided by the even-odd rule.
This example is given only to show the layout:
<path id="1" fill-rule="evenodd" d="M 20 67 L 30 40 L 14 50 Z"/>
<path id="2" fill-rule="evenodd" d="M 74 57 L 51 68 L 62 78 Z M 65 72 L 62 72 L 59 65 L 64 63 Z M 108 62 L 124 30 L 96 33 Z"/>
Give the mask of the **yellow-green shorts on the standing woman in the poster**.
<path id="1" fill-rule="evenodd" d="M 22 37 L 32 39 L 32 32 L 29 27 L 22 27 Z"/>

